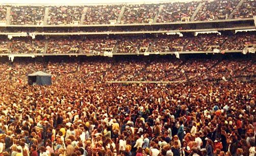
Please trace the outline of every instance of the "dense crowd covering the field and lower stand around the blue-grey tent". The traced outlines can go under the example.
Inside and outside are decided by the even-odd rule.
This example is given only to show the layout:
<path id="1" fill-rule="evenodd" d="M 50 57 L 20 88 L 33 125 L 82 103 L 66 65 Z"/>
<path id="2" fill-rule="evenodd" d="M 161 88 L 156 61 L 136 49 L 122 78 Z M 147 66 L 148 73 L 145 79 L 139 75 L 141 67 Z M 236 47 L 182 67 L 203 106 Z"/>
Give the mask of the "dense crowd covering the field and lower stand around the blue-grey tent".
<path id="1" fill-rule="evenodd" d="M 255 83 L 216 81 L 244 65 L 255 74 L 254 59 L 78 60 L 1 62 L 0 154 L 255 155 Z M 53 85 L 29 86 L 38 70 Z M 145 81 L 187 76 L 105 82 L 134 70 Z"/>

